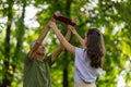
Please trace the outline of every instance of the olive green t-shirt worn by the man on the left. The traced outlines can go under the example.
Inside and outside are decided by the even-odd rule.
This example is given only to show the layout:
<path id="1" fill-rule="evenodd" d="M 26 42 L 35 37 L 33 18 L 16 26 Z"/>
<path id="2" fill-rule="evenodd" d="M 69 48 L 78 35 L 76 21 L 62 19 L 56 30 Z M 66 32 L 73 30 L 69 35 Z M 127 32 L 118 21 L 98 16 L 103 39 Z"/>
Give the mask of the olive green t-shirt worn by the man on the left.
<path id="1" fill-rule="evenodd" d="M 38 61 L 36 58 L 29 60 L 26 57 L 23 87 L 51 87 L 50 66 L 51 55 L 47 57 L 44 62 Z"/>

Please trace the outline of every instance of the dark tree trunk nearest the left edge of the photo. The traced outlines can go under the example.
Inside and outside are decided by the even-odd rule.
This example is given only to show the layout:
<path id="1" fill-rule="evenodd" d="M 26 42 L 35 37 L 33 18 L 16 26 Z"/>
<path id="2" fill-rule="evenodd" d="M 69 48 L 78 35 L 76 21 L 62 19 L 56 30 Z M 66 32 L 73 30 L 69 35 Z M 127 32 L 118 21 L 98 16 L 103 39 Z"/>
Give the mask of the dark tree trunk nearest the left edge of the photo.
<path id="1" fill-rule="evenodd" d="M 12 74 L 8 72 L 9 65 L 10 65 L 10 36 L 11 36 L 11 25 L 12 25 L 12 7 L 13 1 L 8 0 L 8 23 L 7 23 L 7 34 L 5 34 L 5 40 L 4 40 L 4 62 L 3 62 L 3 79 L 2 79 L 2 87 L 8 87 L 11 85 Z"/>

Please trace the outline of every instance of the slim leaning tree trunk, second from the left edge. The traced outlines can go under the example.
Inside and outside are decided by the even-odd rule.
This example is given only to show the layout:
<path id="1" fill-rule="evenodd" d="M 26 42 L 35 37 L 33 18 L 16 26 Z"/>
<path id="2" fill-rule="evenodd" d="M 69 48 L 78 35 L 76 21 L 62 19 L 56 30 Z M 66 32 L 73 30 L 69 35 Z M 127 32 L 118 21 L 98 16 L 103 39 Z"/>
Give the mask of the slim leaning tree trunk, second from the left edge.
<path id="1" fill-rule="evenodd" d="M 25 34 L 24 27 L 24 15 L 25 15 L 25 8 L 26 8 L 26 0 L 23 0 L 23 10 L 22 16 L 17 21 L 17 28 L 16 28 L 16 47 L 13 55 L 13 61 L 15 62 L 14 65 L 17 64 L 17 58 L 21 57 L 22 53 L 22 44 L 23 44 L 23 36 Z"/>

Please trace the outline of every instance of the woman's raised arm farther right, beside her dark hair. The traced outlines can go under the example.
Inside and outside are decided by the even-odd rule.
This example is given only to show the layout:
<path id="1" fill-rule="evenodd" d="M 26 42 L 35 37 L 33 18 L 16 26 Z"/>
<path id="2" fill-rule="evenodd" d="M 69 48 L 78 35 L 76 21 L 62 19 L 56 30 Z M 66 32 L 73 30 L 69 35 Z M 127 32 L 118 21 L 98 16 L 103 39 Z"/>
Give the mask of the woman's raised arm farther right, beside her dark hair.
<path id="1" fill-rule="evenodd" d="M 68 25 L 70 30 L 72 32 L 72 34 L 79 39 L 80 44 L 82 45 L 83 48 L 85 48 L 85 42 L 84 39 L 78 34 L 78 32 L 75 30 L 75 28 L 71 25 Z"/>

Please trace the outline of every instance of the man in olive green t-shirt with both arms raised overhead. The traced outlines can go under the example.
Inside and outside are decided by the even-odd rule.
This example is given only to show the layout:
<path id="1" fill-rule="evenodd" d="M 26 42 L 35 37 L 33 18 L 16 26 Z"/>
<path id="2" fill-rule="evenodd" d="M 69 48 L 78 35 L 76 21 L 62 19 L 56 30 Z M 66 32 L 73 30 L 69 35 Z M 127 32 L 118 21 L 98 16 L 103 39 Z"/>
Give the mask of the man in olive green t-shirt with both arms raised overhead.
<path id="1" fill-rule="evenodd" d="M 31 45 L 31 51 L 24 61 L 23 87 L 51 87 L 50 66 L 64 48 L 60 46 L 53 53 L 46 57 L 46 47 L 41 42 L 48 30 L 49 25 L 41 32 L 37 40 Z M 70 39 L 70 36 L 71 32 L 68 29 L 67 40 Z"/>

